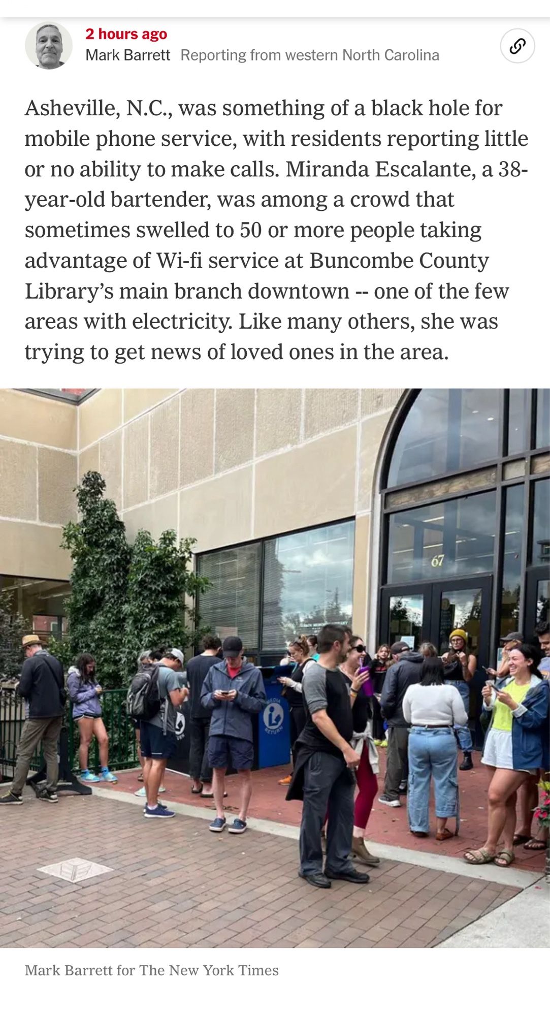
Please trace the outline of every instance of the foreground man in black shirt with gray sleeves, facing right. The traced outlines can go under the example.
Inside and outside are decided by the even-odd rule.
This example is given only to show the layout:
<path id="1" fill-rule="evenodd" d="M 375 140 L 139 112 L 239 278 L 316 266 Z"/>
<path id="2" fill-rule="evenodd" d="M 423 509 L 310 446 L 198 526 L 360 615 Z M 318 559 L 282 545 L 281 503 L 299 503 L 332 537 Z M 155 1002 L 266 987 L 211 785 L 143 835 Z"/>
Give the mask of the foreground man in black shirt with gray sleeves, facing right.
<path id="1" fill-rule="evenodd" d="M 359 755 L 351 747 L 353 718 L 349 685 L 338 664 L 349 649 L 349 635 L 339 625 L 319 633 L 319 659 L 301 680 L 306 714 L 296 742 L 296 761 L 287 801 L 301 799 L 299 875 L 318 889 L 330 889 L 332 879 L 368 882 L 366 872 L 351 864 L 354 770 Z M 329 816 L 327 863 L 323 872 L 321 830 Z"/>

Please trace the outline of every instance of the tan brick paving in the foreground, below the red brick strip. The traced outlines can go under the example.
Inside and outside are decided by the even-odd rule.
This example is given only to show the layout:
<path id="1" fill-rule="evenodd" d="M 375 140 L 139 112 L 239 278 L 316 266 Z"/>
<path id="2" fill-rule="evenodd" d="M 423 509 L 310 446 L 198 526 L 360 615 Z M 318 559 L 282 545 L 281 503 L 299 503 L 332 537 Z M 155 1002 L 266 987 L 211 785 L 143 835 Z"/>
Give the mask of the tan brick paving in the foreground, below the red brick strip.
<path id="1" fill-rule="evenodd" d="M 393 861 L 367 886 L 322 891 L 297 877 L 294 840 L 161 826 L 107 798 L 47 806 L 26 790 L 0 822 L 0 947 L 424 948 L 519 891 Z M 37 871 L 76 856 L 113 871 L 78 884 Z"/>

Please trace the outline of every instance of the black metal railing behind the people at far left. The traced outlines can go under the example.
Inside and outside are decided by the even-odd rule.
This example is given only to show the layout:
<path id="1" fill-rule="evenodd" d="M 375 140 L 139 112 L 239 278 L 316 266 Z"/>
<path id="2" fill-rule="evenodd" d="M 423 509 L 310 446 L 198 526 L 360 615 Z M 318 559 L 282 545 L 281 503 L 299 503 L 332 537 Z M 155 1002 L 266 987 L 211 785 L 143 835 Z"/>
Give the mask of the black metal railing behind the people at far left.
<path id="1" fill-rule="evenodd" d="M 16 682 L 0 685 L 0 780 L 11 779 L 15 767 L 16 748 L 24 723 L 24 702 L 15 692 Z M 101 695 L 101 719 L 109 735 L 109 765 L 112 769 L 134 769 L 139 765 L 135 731 L 126 713 L 126 689 L 109 688 Z M 78 772 L 78 721 L 72 718 L 72 703 L 67 702 L 65 724 L 68 731 L 69 764 Z M 90 769 L 97 769 L 99 754 L 93 739 L 88 757 Z M 30 769 L 42 766 L 42 754 L 37 752 Z"/>

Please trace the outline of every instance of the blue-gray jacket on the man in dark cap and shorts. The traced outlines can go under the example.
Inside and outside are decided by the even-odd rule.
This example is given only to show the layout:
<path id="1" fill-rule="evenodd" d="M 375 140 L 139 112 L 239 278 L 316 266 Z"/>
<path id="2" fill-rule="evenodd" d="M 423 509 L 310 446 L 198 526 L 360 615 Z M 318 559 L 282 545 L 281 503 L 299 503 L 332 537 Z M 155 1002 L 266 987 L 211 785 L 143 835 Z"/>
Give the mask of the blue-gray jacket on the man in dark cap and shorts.
<path id="1" fill-rule="evenodd" d="M 232 702 L 214 698 L 214 692 L 229 692 L 232 689 L 236 691 Z M 243 662 L 236 677 L 230 678 L 225 660 L 219 659 L 204 679 L 201 702 L 212 713 L 210 737 L 221 735 L 252 741 L 252 714 L 261 712 L 267 705 L 262 675 L 257 666 Z"/>

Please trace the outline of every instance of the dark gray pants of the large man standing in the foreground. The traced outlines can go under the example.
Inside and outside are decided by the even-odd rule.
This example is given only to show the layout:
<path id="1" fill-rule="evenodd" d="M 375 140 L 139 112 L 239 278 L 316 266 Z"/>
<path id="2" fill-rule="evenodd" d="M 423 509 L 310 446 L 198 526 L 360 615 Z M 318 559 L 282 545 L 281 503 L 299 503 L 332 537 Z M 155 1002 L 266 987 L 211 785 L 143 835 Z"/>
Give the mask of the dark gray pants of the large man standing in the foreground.
<path id="1" fill-rule="evenodd" d="M 352 868 L 349 860 L 353 838 L 353 791 L 355 781 L 343 758 L 314 752 L 303 767 L 303 808 L 299 830 L 300 874 L 323 871 L 321 830 L 327 812 L 327 868 L 343 872 Z"/>

